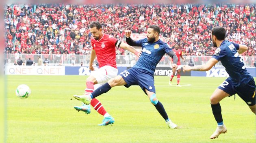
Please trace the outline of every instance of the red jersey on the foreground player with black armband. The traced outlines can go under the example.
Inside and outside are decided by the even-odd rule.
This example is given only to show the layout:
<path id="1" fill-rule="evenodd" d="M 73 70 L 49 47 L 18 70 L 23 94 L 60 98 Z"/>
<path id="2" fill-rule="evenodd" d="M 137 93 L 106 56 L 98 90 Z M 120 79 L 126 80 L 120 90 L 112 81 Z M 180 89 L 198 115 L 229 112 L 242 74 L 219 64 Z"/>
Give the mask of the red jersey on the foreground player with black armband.
<path id="1" fill-rule="evenodd" d="M 115 47 L 120 43 L 121 41 L 108 34 L 103 34 L 99 40 L 91 38 L 91 45 L 95 50 L 99 67 L 107 65 L 117 68 Z"/>

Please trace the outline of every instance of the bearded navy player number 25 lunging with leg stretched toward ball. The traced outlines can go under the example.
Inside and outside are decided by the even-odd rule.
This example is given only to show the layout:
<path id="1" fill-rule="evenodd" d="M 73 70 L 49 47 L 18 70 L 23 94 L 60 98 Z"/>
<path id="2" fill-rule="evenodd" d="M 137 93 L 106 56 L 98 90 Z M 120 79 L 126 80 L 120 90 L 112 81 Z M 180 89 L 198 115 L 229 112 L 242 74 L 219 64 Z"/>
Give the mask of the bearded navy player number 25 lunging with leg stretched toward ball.
<path id="1" fill-rule="evenodd" d="M 74 95 L 74 98 L 88 105 L 93 98 L 108 92 L 115 86 L 124 85 L 126 88 L 129 88 L 131 85 L 139 85 L 145 94 L 148 95 L 150 102 L 164 118 L 168 127 L 178 128 L 176 124 L 171 122 L 162 103 L 156 98 L 156 90 L 154 86 L 154 71 L 158 62 L 161 60 L 163 55 L 167 53 L 174 60 L 172 68 L 178 68 L 178 58 L 176 54 L 167 43 L 159 39 L 160 28 L 156 25 L 149 26 L 147 38 L 139 41 L 133 41 L 130 38 L 130 34 L 130 30 L 126 30 L 126 42 L 128 45 L 142 47 L 141 56 L 135 66 L 125 70 L 117 77 L 110 79 L 100 88 L 94 90 L 90 95 Z"/>

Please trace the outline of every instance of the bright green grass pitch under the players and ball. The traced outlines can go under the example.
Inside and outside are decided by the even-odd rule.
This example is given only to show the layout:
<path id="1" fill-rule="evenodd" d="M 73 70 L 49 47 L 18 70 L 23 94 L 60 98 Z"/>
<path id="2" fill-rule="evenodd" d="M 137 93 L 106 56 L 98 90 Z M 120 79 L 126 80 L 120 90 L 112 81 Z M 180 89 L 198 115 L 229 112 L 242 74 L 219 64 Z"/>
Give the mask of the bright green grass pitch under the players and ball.
<path id="1" fill-rule="evenodd" d="M 255 143 L 255 115 L 234 96 L 221 103 L 228 132 L 209 139 L 216 129 L 210 95 L 225 78 L 181 77 L 181 88 L 169 86 L 169 77 L 156 76 L 156 96 L 180 129 L 169 129 L 139 86 L 112 88 L 99 96 L 115 118 L 112 126 L 97 126 L 103 117 L 74 110 L 83 94 L 86 76 L 7 76 L 7 143 Z M 176 83 L 174 77 L 174 83 Z M 30 96 L 22 100 L 15 88 L 27 84 Z"/>

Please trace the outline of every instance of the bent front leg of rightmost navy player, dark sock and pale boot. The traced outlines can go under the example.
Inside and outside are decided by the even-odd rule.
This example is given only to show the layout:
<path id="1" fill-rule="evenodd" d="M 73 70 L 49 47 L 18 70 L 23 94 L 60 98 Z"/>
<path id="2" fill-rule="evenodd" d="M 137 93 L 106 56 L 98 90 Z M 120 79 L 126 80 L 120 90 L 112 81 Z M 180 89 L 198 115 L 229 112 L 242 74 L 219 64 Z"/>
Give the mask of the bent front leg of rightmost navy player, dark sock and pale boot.
<path id="1" fill-rule="evenodd" d="M 221 115 L 221 106 L 219 104 L 219 102 L 227 96 L 230 96 L 230 94 L 217 88 L 213 92 L 212 96 L 210 97 L 210 104 L 211 104 L 211 107 L 213 110 L 213 115 L 215 117 L 215 120 L 217 121 L 217 129 L 210 136 L 210 139 L 215 139 L 216 137 L 219 137 L 220 134 L 227 132 L 227 128 L 223 124 L 223 119 L 222 119 L 222 115 Z"/>

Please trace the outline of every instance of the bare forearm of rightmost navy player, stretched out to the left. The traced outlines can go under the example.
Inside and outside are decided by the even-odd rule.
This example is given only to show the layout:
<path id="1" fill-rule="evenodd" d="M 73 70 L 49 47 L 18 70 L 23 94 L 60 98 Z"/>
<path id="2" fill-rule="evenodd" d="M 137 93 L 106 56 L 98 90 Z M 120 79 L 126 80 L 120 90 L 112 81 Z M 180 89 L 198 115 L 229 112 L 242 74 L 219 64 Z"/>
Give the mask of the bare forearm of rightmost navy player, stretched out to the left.
<path id="1" fill-rule="evenodd" d="M 196 71 L 208 71 L 210 70 L 215 64 L 217 64 L 219 61 L 216 60 L 215 58 L 210 58 L 210 60 L 203 65 L 200 66 L 188 66 L 185 65 L 183 66 L 183 72 L 186 71 L 191 71 L 191 70 L 196 70 Z"/>

